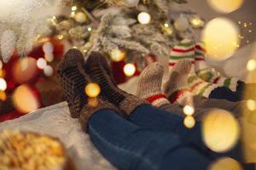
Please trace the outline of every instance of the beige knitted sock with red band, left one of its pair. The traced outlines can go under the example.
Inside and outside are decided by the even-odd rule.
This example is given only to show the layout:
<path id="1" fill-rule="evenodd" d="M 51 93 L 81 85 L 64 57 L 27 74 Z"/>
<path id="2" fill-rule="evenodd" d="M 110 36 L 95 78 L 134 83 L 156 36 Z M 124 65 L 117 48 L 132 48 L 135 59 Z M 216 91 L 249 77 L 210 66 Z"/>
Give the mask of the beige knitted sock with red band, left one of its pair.
<path id="1" fill-rule="evenodd" d="M 148 65 L 138 79 L 136 95 L 146 99 L 155 107 L 170 104 L 161 90 L 163 76 L 164 67 L 162 65 L 158 63 Z"/>

